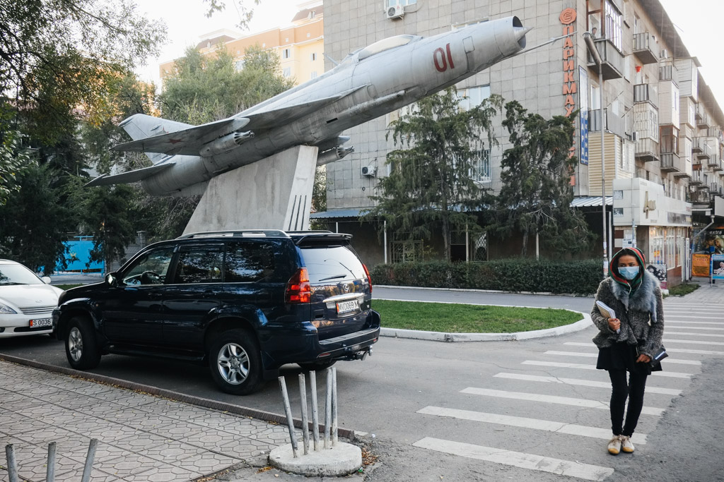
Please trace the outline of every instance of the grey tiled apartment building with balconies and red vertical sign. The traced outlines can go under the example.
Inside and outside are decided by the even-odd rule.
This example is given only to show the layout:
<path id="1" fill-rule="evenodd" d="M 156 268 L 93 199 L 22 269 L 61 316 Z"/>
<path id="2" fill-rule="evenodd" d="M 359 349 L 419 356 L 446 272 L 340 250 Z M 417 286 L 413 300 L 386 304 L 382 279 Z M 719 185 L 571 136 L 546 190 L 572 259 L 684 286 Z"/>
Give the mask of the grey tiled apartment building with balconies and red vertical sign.
<path id="1" fill-rule="evenodd" d="M 392 35 L 436 35 L 511 15 L 534 27 L 526 35 L 528 46 L 573 34 L 456 87 L 468 102 L 495 93 L 546 117 L 580 109 L 571 152 L 578 158 L 573 205 L 601 236 L 605 189 L 609 254 L 637 246 L 664 279 L 676 283 L 685 276 L 692 215 L 722 194 L 724 114 L 658 0 L 339 0 L 325 7 L 324 50 L 332 59 Z M 600 69 L 584 32 L 592 33 Z M 409 241 L 378 241 L 371 226 L 357 219 L 373 205 L 369 196 L 387 174 L 384 161 L 394 146 L 385 134 L 400 113 L 345 132 L 355 153 L 327 166 L 328 209 L 313 215 L 332 229 L 355 233 L 368 264 L 395 262 L 415 251 Z M 492 189 L 500 188 L 500 159 L 508 147 L 500 124 L 497 129 L 499 145 L 476 159 L 479 183 Z M 463 233 L 458 243 L 461 259 L 480 259 L 483 251 L 491 257 L 514 254 Z"/>

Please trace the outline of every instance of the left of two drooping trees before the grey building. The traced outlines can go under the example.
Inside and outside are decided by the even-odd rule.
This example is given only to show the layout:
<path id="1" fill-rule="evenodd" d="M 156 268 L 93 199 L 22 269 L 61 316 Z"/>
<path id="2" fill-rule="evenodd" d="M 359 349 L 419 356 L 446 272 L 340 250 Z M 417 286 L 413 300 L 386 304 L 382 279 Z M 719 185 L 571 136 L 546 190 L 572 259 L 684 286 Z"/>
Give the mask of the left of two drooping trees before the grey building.
<path id="1" fill-rule="evenodd" d="M 411 113 L 393 121 L 395 146 L 387 155 L 390 176 L 380 179 L 378 204 L 364 218 L 387 221 L 387 228 L 408 239 L 442 232 L 445 259 L 450 259 L 453 230 L 477 226 L 481 187 L 473 172 L 473 150 L 492 141 L 491 118 L 502 99 L 493 96 L 467 111 L 451 87 L 420 100 Z"/>

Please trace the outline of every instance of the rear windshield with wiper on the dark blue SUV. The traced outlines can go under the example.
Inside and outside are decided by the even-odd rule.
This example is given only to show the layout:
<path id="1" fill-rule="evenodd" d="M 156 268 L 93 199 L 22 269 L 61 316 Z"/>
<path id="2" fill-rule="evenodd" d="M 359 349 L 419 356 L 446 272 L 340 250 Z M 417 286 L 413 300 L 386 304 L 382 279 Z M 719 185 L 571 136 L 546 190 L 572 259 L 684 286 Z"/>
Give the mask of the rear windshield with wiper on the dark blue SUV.
<path id="1" fill-rule="evenodd" d="M 366 278 L 362 262 L 348 246 L 302 246 L 302 257 L 310 283 Z"/>

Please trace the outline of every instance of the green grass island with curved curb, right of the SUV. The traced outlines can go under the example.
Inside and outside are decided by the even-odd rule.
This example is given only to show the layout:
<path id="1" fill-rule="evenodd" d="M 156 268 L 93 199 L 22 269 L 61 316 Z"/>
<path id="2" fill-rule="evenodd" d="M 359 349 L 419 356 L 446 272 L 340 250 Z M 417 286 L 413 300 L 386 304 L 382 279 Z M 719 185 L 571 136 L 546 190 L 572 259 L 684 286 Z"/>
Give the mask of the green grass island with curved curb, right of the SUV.
<path id="1" fill-rule="evenodd" d="M 582 319 L 563 309 L 374 300 L 382 327 L 446 333 L 514 333 L 560 327 Z"/>

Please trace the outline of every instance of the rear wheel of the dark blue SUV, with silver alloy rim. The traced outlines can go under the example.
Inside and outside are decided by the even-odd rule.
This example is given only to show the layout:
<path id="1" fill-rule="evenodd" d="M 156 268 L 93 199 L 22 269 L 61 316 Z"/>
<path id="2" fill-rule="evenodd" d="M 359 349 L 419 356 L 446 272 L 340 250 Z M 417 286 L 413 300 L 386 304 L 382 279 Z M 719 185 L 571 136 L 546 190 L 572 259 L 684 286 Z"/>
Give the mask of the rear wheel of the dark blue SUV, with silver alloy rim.
<path id="1" fill-rule="evenodd" d="M 261 355 L 246 330 L 227 330 L 211 343 L 209 366 L 214 382 L 232 395 L 249 395 L 261 385 Z"/>

